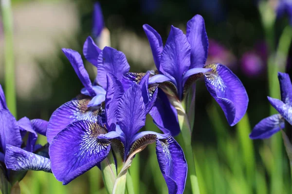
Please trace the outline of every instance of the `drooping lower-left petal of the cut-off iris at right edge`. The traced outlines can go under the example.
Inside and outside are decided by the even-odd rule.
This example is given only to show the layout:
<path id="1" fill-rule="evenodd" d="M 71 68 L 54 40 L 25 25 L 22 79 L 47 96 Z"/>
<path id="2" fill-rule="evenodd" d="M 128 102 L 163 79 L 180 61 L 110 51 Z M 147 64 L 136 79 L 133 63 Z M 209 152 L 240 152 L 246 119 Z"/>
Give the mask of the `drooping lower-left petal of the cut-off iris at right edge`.
<path id="1" fill-rule="evenodd" d="M 261 120 L 256 124 L 255 128 L 250 134 L 251 139 L 265 139 L 270 138 L 274 133 L 284 129 L 284 119 L 280 114 L 274 114 Z"/>

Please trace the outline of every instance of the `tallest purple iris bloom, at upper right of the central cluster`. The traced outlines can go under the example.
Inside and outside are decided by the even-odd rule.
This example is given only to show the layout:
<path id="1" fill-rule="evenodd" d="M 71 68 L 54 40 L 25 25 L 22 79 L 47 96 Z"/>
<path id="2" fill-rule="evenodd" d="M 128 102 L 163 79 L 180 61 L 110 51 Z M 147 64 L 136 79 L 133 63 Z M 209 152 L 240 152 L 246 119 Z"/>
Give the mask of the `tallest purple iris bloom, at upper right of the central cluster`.
<path id="1" fill-rule="evenodd" d="M 187 22 L 186 35 L 171 26 L 165 45 L 152 27 L 145 24 L 143 28 L 158 70 L 149 84 L 159 83 L 174 104 L 174 101 L 182 102 L 190 86 L 199 78 L 204 78 L 207 90 L 219 103 L 229 125 L 237 124 L 247 110 L 248 96 L 241 81 L 226 66 L 218 63 L 205 65 L 208 37 L 202 16 L 196 15 Z M 159 126 L 171 130 L 172 135 L 180 132 L 176 110 L 170 107 L 162 92 L 159 92 L 150 114 Z"/>

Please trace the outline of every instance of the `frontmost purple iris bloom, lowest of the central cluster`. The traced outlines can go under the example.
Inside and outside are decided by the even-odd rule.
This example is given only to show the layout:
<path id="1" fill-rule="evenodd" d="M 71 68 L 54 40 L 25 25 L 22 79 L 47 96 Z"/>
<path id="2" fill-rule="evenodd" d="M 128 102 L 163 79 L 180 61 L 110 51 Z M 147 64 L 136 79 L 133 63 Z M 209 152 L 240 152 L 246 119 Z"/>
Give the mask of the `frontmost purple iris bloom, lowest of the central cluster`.
<path id="1" fill-rule="evenodd" d="M 52 171 L 59 181 L 68 184 L 77 176 L 102 162 L 113 147 L 119 147 L 126 162 L 150 143 L 156 143 L 157 159 L 170 194 L 182 194 L 187 163 L 182 148 L 169 134 L 138 132 L 153 106 L 157 91 L 148 93 L 149 74 L 124 91 L 113 74 L 107 74 L 105 124 L 79 120 L 59 132 L 51 142 L 49 154 Z"/>

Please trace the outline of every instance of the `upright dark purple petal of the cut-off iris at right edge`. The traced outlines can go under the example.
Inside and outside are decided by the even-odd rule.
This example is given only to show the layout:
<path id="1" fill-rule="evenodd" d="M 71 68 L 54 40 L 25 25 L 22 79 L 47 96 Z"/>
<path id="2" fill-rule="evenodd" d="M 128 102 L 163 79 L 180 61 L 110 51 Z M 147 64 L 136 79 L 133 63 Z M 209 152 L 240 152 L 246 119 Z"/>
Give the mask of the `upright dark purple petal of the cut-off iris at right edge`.
<path id="1" fill-rule="evenodd" d="M 288 73 L 278 72 L 281 99 L 285 104 L 292 106 L 292 84 Z"/>

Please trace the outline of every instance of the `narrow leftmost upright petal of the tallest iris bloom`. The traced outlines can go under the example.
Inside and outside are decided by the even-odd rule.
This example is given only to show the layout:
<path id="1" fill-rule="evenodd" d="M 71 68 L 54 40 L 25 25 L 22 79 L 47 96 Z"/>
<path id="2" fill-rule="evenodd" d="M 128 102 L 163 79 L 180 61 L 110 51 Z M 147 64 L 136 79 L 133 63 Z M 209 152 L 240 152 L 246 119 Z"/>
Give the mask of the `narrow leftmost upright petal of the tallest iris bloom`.
<path id="1" fill-rule="evenodd" d="M 163 50 L 163 42 L 161 39 L 161 36 L 156 30 L 154 30 L 151 26 L 148 24 L 143 25 L 144 32 L 146 33 L 146 36 L 148 38 L 152 54 L 153 54 L 153 59 L 154 63 L 156 65 L 157 70 L 160 70 L 160 57 L 161 53 Z"/>

